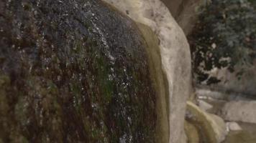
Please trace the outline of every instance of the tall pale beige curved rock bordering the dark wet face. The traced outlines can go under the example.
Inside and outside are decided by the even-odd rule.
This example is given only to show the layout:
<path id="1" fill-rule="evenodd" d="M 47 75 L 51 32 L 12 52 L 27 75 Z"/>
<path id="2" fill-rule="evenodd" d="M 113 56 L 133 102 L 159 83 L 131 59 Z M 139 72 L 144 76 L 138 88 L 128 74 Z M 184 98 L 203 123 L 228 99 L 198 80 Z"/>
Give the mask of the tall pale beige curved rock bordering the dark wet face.
<path id="1" fill-rule="evenodd" d="M 168 95 L 161 98 L 167 110 L 169 131 L 160 137 L 170 143 L 186 142 L 184 114 L 191 86 L 191 55 L 186 36 L 160 0 L 104 0 L 134 21 L 150 26 L 160 40 L 163 72 L 168 80 Z M 158 103 L 160 104 L 160 102 Z M 165 104 L 168 105 L 165 108 Z M 163 118 L 162 122 L 165 122 Z M 166 126 L 164 123 L 163 126 Z M 164 128 L 162 128 L 164 129 Z M 166 135 L 168 134 L 168 135 Z"/>

